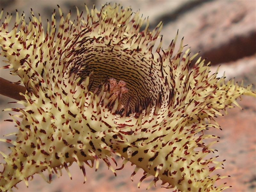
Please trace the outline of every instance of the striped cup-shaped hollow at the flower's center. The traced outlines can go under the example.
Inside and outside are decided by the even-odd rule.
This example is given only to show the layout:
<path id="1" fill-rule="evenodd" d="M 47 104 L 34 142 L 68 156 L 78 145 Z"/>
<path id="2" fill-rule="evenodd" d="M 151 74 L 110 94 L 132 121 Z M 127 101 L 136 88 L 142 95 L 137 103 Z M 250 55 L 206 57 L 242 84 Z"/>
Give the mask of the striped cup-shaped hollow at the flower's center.
<path id="1" fill-rule="evenodd" d="M 80 77 L 81 82 L 93 72 L 92 92 L 97 92 L 106 79 L 113 99 L 120 92 L 118 109 L 122 110 L 127 103 L 132 112 L 146 109 L 151 101 L 156 102 L 159 92 L 163 92 L 161 84 L 165 79 L 160 72 L 161 65 L 152 59 L 150 52 L 134 49 L 129 44 L 113 43 L 109 38 L 84 37 L 67 54 L 73 55 L 68 64 L 70 72 Z"/>

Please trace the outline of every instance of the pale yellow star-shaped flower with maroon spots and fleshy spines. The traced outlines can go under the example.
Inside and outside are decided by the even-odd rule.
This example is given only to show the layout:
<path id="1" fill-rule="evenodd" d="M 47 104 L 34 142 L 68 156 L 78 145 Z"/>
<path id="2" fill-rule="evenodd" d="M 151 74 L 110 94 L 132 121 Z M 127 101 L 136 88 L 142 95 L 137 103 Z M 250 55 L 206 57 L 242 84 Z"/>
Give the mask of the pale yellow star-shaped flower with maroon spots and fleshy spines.
<path id="1" fill-rule="evenodd" d="M 208 128 L 220 128 L 213 117 L 231 108 L 240 95 L 256 96 L 251 86 L 244 88 L 224 77 L 209 75 L 209 66 L 199 58 L 191 68 L 189 49 L 182 41 L 173 53 L 177 36 L 163 50 L 161 42 L 153 52 L 162 23 L 151 32 L 149 23 L 130 8 L 105 5 L 87 14 L 77 10 L 77 21 L 61 9 L 57 27 L 55 11 L 47 30 L 41 18 L 25 24 L 24 14 L 16 14 L 12 30 L 7 14 L 0 27 L 4 68 L 20 76 L 27 91 L 12 152 L 0 176 L 6 191 L 18 182 L 28 186 L 29 177 L 48 171 L 52 174 L 76 162 L 84 174 L 84 163 L 96 170 L 102 159 L 116 175 L 128 161 L 136 165 L 132 176 L 144 170 L 141 181 L 154 176 L 148 188 L 161 180 L 180 191 L 221 191 L 214 186 L 226 176 L 212 175 L 223 161 L 207 158 L 214 149 L 206 135 Z M 0 18 L 2 18 L 3 11 Z M 178 35 L 178 34 L 177 34 Z M 210 121 L 209 121 L 210 120 Z M 199 148 L 199 149 L 198 149 Z M 124 158 L 114 169 L 115 155 Z M 88 161 L 91 161 L 89 164 Z M 69 174 L 70 175 L 70 174 Z M 70 175 L 71 178 L 71 175 Z"/>

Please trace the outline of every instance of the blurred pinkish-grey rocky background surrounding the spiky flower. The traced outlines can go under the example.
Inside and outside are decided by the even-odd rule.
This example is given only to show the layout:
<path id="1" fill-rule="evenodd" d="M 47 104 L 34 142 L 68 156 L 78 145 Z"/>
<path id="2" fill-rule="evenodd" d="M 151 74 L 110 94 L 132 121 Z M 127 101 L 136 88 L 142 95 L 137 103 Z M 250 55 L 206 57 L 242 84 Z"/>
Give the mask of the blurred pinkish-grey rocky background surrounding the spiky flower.
<path id="1" fill-rule="evenodd" d="M 46 24 L 46 19 L 51 19 L 57 4 L 60 5 L 64 15 L 71 10 L 75 19 L 75 6 L 80 11 L 85 11 L 84 3 L 89 8 L 95 4 L 99 10 L 101 5 L 107 2 L 120 3 L 124 7 L 131 6 L 134 12 L 140 10 L 143 18 L 149 16 L 151 29 L 163 21 L 164 26 L 160 35 L 164 36 L 164 48 L 167 48 L 179 29 L 178 43 L 184 36 L 184 44 L 191 47 L 192 53 L 201 51 L 200 56 L 211 61 L 212 72 L 220 66 L 220 76 L 226 71 L 227 79 L 236 77 L 235 80 L 239 83 L 244 79 L 245 85 L 254 83 L 255 90 L 256 1 L 254 0 L 0 0 L 0 8 L 4 8 L 4 14 L 9 12 L 15 15 L 15 9 L 20 13 L 24 11 L 27 20 L 32 8 L 35 15 L 40 13 L 42 22 Z M 0 59 L 0 65 L 4 66 L 4 58 Z M 11 81 L 19 80 L 16 76 L 8 74 L 7 70 L 1 70 L 0 76 Z M 14 107 L 14 104 L 7 104 L 10 101 L 13 100 L 0 95 L 1 137 L 8 132 L 16 131 L 14 124 L 3 121 L 8 118 L 8 113 L 2 110 Z M 223 131 L 209 130 L 209 134 L 221 137 L 220 142 L 214 147 L 219 151 L 216 153 L 220 155 L 219 160 L 226 159 L 225 169 L 215 173 L 220 172 L 222 175 L 231 176 L 221 180 L 221 183 L 227 182 L 227 185 L 233 186 L 225 191 L 256 191 L 256 100 L 244 96 L 238 103 L 243 110 L 236 107 L 228 110 L 227 116 L 218 117 L 217 121 Z M 1 143 L 1 151 L 8 153 L 4 143 Z M 121 164 L 122 160 L 118 159 L 118 162 Z M 134 166 L 127 163 L 122 171 L 117 171 L 117 177 L 115 177 L 101 162 L 97 172 L 94 169 L 86 169 L 87 182 L 83 184 L 83 173 L 77 164 L 74 164 L 69 169 L 73 180 L 70 180 L 66 171 L 63 170 L 63 176 L 56 179 L 55 175 L 51 184 L 47 184 L 40 176 L 35 176 L 34 180 L 29 182 L 29 188 L 21 182 L 17 185 L 19 190 L 14 189 L 14 191 L 146 191 L 152 178 L 143 181 L 141 187 L 137 188 L 142 171 L 134 176 L 134 182 L 132 182 L 130 175 L 133 169 Z M 157 183 L 156 188 L 152 187 L 148 191 L 171 191 L 161 188 L 160 184 L 160 182 Z"/>

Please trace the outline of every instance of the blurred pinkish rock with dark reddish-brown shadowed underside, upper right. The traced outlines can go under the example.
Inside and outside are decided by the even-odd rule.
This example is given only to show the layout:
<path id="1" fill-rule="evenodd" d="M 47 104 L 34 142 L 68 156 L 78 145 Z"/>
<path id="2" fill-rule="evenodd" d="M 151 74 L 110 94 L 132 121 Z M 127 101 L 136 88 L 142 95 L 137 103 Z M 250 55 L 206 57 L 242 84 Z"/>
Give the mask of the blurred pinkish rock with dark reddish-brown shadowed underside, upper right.
<path id="1" fill-rule="evenodd" d="M 210 1 L 194 7 L 177 20 L 165 23 L 168 46 L 177 29 L 192 52 L 201 51 L 213 64 L 236 60 L 256 52 L 254 1 Z"/>

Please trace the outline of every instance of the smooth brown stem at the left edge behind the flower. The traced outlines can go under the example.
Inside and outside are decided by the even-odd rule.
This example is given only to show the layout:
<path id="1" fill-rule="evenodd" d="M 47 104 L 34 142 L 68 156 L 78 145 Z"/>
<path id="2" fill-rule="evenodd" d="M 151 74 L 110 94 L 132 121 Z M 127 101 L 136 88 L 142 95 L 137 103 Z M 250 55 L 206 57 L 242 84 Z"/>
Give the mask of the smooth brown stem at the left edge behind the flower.
<path id="1" fill-rule="evenodd" d="M 26 87 L 14 84 L 2 77 L 0 77 L 0 94 L 10 97 L 16 100 L 25 100 L 25 97 L 20 95 L 19 93 L 25 94 Z"/>

